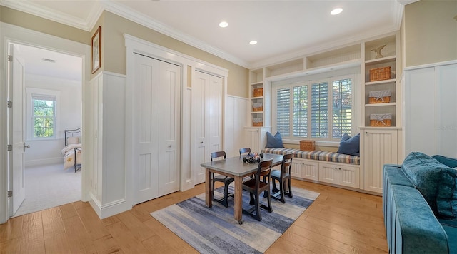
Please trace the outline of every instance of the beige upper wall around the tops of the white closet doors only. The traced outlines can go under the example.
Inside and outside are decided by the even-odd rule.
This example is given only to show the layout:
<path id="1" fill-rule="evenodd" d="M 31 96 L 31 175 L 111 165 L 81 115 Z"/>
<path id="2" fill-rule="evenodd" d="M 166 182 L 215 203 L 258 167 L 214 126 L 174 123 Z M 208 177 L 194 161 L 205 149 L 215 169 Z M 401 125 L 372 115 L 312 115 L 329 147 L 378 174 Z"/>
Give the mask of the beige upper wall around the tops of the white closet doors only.
<path id="1" fill-rule="evenodd" d="M 169 36 L 161 34 L 152 29 L 141 26 L 132 21 L 104 11 L 101 19 L 97 22 L 101 24 L 102 34 L 102 69 L 114 73 L 126 73 L 126 47 L 124 34 L 151 41 L 154 44 L 164 46 L 174 51 L 193 56 L 196 59 L 209 62 L 216 66 L 221 66 L 229 70 L 227 93 L 233 96 L 248 97 L 248 69 L 221 59 L 212 54 L 206 53 L 194 46 L 185 44 Z M 97 26 L 98 27 L 98 26 Z M 96 27 L 94 27 L 95 31 Z M 92 31 L 92 33 L 94 33 Z"/>

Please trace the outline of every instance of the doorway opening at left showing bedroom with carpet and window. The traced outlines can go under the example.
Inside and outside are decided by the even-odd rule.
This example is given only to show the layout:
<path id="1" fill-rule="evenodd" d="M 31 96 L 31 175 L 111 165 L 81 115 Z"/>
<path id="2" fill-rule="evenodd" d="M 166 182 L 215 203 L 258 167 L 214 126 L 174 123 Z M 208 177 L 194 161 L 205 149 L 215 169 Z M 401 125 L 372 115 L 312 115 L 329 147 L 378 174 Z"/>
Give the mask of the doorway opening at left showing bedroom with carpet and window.
<path id="1" fill-rule="evenodd" d="M 64 131 L 82 126 L 83 58 L 25 44 L 11 43 L 9 49 L 9 54 L 14 49 L 14 57 L 23 63 L 21 84 L 9 83 L 10 100 L 14 98 L 12 114 L 17 113 L 14 107 L 21 105 L 23 121 L 9 124 L 9 132 L 22 133 L 24 139 L 21 173 L 9 171 L 9 190 L 19 183 L 25 193 L 23 200 L 15 200 L 13 191 L 16 203 L 12 205 L 10 199 L 11 218 L 81 200 L 81 170 L 64 169 L 62 149 Z M 9 78 L 16 75 L 10 73 Z M 21 95 L 15 97 L 17 91 Z M 14 122 L 12 118 L 9 121 Z M 11 157 L 11 163 L 19 160 Z"/>

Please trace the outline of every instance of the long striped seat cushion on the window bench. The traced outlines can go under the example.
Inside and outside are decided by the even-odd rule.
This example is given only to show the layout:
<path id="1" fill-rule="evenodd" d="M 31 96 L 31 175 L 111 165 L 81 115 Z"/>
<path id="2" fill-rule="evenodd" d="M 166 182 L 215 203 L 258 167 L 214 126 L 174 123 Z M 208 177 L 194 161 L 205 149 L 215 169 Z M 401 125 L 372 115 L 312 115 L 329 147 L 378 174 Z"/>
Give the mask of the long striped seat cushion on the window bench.
<path id="1" fill-rule="evenodd" d="M 262 149 L 261 152 L 274 154 L 293 153 L 293 156 L 296 158 L 360 165 L 359 156 L 350 156 L 343 153 L 335 153 L 328 151 L 303 151 L 300 149 L 293 148 L 265 148 Z"/>

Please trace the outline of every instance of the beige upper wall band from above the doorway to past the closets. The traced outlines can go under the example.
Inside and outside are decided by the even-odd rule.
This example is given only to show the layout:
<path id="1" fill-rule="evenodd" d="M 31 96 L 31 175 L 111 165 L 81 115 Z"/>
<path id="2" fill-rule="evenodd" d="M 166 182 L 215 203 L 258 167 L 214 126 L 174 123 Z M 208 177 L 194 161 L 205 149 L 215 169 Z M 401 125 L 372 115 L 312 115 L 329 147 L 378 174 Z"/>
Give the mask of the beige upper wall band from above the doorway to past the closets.
<path id="1" fill-rule="evenodd" d="M 21 11 L 0 6 L 0 21 L 26 29 L 40 31 L 44 34 L 51 34 L 71 41 L 78 41 L 84 44 L 91 44 L 91 38 L 96 29 L 101 26 L 101 68 L 100 71 L 111 71 L 114 73 L 126 73 L 126 47 L 124 46 L 123 34 L 130 34 L 154 44 L 164 46 L 174 51 L 193 56 L 216 66 L 229 70 L 227 78 L 227 93 L 232 96 L 248 98 L 248 69 L 233 64 L 212 54 L 196 49 L 189 44 L 173 39 L 145 26 L 141 26 L 120 16 L 104 11 L 94 25 L 92 31 L 84 31 L 71 26 L 66 26 L 38 16 L 26 14 Z M 94 76 L 93 75 L 93 76 Z M 188 81 L 189 84 L 189 81 Z"/>

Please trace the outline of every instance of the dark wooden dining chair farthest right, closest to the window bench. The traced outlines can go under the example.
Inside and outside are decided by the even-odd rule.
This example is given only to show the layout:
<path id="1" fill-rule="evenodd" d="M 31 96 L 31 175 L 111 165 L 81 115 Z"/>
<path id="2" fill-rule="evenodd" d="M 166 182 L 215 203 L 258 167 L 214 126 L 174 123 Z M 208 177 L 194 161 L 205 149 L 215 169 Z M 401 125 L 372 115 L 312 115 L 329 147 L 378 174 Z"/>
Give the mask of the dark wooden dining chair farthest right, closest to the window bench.
<path id="1" fill-rule="evenodd" d="M 291 168 L 292 168 L 292 158 L 293 153 L 287 153 L 283 156 L 283 161 L 281 163 L 281 169 L 273 169 L 271 171 L 271 184 L 273 185 L 271 193 L 271 198 L 286 203 L 284 195 L 288 195 L 292 198 L 292 185 L 291 185 Z M 276 181 L 279 182 L 279 190 L 276 188 Z M 288 191 L 284 190 L 286 186 Z M 279 197 L 278 197 L 279 196 Z"/>

